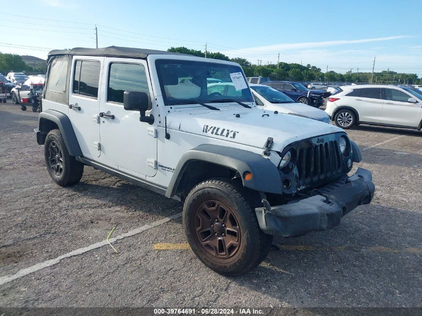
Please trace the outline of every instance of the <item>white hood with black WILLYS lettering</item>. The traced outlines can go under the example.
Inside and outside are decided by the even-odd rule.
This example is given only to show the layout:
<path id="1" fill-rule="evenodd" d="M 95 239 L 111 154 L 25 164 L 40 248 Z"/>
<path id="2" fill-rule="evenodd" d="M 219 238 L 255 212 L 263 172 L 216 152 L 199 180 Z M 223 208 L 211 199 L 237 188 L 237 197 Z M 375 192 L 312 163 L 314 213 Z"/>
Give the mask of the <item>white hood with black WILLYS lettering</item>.
<path id="1" fill-rule="evenodd" d="M 308 118 L 237 105 L 220 107 L 220 111 L 183 108 L 167 115 L 167 129 L 258 148 L 264 148 L 268 137 L 272 137 L 272 149 L 277 151 L 301 139 L 343 131 Z"/>

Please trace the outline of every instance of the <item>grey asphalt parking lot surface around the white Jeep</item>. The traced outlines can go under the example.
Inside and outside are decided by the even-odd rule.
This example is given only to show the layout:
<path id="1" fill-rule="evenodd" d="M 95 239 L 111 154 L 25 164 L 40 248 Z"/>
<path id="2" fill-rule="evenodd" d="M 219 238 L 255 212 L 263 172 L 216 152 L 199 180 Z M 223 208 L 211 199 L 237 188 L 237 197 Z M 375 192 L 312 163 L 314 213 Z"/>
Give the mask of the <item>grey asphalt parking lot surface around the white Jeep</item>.
<path id="1" fill-rule="evenodd" d="M 179 202 L 91 167 L 53 184 L 36 126 L 37 113 L 0 104 L 1 307 L 422 307 L 422 131 L 348 131 L 372 204 L 275 239 L 256 270 L 227 278 L 189 250 Z"/>

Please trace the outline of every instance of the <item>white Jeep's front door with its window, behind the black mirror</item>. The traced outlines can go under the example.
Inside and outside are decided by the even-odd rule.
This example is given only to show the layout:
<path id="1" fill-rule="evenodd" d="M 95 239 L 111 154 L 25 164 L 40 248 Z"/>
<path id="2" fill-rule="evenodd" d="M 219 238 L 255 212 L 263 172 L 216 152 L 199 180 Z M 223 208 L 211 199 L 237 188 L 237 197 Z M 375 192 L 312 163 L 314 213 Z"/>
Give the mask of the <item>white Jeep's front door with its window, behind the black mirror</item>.
<path id="1" fill-rule="evenodd" d="M 153 177 L 157 172 L 158 120 L 153 125 L 140 122 L 139 111 L 123 107 L 124 91 L 146 92 L 153 103 L 147 63 L 141 59 L 106 57 L 102 78 L 105 87 L 98 112 L 102 116 L 98 161 L 136 177 Z"/>

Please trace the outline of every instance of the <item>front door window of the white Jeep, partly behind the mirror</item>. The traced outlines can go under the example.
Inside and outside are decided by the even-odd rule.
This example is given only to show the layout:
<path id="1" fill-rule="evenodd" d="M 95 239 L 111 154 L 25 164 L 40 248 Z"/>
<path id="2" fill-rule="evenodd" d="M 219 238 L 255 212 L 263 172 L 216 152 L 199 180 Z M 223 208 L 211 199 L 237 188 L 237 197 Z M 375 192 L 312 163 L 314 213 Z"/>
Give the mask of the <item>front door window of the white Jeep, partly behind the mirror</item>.
<path id="1" fill-rule="evenodd" d="M 112 63 L 108 72 L 107 102 L 123 103 L 124 91 L 149 95 L 145 67 L 140 64 Z"/>

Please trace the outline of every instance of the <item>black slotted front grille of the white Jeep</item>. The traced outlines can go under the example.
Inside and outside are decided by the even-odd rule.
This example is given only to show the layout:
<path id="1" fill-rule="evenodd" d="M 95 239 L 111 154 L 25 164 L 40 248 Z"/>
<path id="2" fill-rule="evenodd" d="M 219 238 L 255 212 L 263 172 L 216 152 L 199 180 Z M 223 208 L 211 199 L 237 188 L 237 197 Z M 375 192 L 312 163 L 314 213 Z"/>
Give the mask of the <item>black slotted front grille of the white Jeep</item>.
<path id="1" fill-rule="evenodd" d="M 299 187 L 309 186 L 342 174 L 340 148 L 337 140 L 323 143 L 304 142 L 297 147 Z"/>

